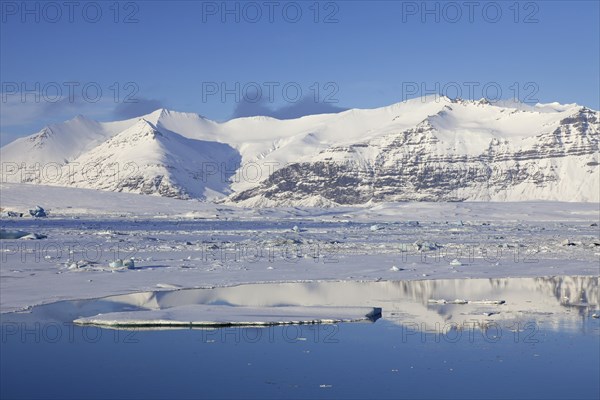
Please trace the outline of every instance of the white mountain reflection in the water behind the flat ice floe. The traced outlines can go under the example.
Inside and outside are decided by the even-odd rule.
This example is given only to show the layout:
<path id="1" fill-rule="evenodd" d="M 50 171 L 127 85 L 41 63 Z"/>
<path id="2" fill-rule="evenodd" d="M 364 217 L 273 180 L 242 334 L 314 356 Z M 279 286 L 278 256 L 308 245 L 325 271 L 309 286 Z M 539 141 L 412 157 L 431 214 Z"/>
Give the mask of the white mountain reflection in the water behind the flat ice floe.
<path id="1" fill-rule="evenodd" d="M 600 309 L 598 277 L 295 282 L 143 292 L 35 307 L 40 318 L 72 321 L 100 313 L 176 310 L 194 304 L 232 307 L 381 307 L 398 324 L 485 325 L 534 318 L 547 327 L 573 325 Z M 501 303 L 501 304 L 499 304 Z M 307 308 L 307 313 L 310 309 Z"/>

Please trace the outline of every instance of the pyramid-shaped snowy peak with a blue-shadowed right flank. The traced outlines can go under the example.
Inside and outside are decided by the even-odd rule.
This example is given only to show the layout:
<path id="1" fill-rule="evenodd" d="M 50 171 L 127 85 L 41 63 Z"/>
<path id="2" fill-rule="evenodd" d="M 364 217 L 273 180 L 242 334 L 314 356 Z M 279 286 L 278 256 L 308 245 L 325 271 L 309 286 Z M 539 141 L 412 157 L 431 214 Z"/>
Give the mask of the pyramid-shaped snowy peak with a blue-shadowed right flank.
<path id="1" fill-rule="evenodd" d="M 239 164 L 229 145 L 189 139 L 140 119 L 69 163 L 59 183 L 175 198 L 212 198 L 229 191 L 229 176 L 209 167 Z M 71 165 L 94 166 L 72 168 Z M 97 167 L 96 167 L 97 166 Z"/>

